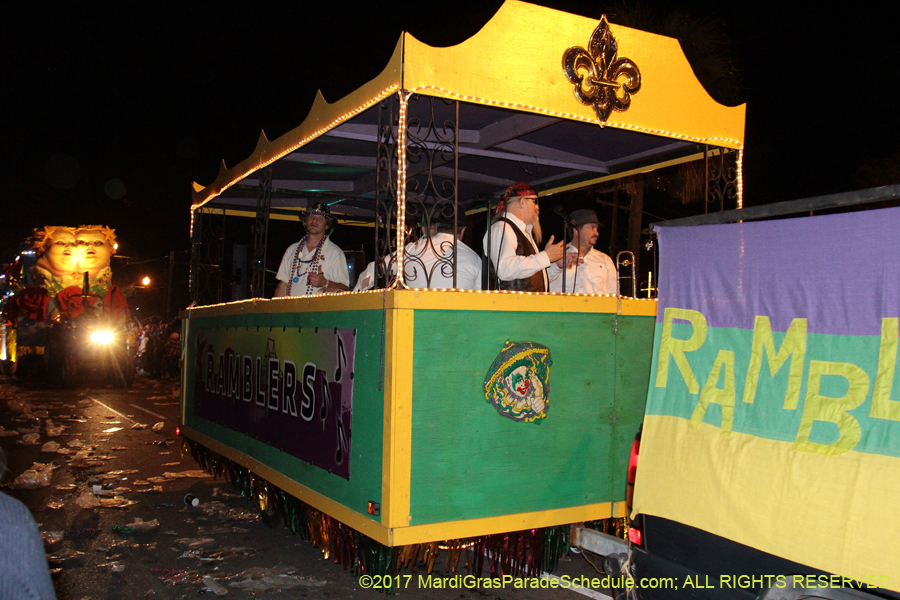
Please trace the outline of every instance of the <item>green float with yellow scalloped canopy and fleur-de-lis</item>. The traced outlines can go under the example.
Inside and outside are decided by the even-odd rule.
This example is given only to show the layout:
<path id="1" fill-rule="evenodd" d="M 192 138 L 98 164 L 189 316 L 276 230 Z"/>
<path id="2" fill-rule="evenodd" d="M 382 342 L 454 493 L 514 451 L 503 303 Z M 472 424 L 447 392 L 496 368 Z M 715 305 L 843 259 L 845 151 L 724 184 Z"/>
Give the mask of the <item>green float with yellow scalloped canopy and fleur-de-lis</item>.
<path id="1" fill-rule="evenodd" d="M 605 18 L 508 0 L 456 46 L 402 34 L 375 79 L 194 184 L 195 299 L 205 228 L 249 217 L 254 234 L 253 298 L 182 313 L 195 456 L 345 565 L 430 568 L 448 549 L 455 568 L 471 548 L 479 572 L 552 569 L 569 524 L 625 516 L 656 302 L 410 289 L 413 223 L 477 228 L 523 165 L 546 197 L 689 162 L 711 178 L 728 159 L 740 206 L 744 113 L 710 98 L 676 40 Z M 266 299 L 283 251 L 269 223 L 323 201 L 398 276 Z"/>

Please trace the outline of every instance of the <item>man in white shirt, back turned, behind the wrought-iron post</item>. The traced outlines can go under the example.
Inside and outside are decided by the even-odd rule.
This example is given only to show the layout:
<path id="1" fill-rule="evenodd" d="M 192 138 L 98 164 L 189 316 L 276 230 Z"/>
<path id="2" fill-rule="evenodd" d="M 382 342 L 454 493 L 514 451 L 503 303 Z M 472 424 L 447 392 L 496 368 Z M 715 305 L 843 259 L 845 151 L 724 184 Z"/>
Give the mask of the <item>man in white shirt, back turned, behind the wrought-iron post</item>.
<path id="1" fill-rule="evenodd" d="M 410 288 L 460 290 L 481 289 L 481 257 L 465 245 L 462 236 L 465 226 L 456 232 L 456 285 L 453 285 L 453 223 L 435 218 L 428 234 L 406 245 L 403 272 Z M 396 257 L 385 257 L 385 268 L 393 277 L 397 272 Z M 353 291 L 367 290 L 375 279 L 375 263 L 369 263 L 360 275 Z"/>

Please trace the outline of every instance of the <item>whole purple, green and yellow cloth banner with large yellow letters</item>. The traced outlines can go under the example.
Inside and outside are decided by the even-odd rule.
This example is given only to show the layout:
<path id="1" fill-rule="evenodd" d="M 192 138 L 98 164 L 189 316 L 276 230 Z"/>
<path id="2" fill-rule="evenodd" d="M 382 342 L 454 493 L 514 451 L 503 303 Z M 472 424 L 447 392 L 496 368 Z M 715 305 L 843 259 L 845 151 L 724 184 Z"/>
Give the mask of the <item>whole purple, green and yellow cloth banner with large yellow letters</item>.
<path id="1" fill-rule="evenodd" d="M 660 228 L 634 513 L 900 589 L 898 230 L 900 209 Z"/>

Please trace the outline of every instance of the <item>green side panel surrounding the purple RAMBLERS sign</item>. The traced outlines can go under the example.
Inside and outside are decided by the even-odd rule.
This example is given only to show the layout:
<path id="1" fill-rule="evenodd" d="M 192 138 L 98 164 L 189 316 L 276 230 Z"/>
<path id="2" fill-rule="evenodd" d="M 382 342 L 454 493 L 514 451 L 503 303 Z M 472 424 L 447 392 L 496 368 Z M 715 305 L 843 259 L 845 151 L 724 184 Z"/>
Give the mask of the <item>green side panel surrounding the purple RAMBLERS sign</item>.
<path id="1" fill-rule="evenodd" d="M 283 330 L 296 331 L 300 327 L 356 329 L 349 481 L 250 436 L 196 417 L 193 411 L 194 369 L 190 366 L 186 368 L 185 425 L 368 517 L 367 502 L 381 502 L 384 392 L 378 390 L 378 381 L 383 314 L 380 310 L 247 314 L 194 317 L 188 324 L 186 365 L 194 364 L 196 332 L 201 329 L 243 328 L 242 335 L 252 337 L 254 343 L 259 342 L 254 336 L 262 336 L 263 348 L 270 327 L 281 335 L 284 335 Z"/>

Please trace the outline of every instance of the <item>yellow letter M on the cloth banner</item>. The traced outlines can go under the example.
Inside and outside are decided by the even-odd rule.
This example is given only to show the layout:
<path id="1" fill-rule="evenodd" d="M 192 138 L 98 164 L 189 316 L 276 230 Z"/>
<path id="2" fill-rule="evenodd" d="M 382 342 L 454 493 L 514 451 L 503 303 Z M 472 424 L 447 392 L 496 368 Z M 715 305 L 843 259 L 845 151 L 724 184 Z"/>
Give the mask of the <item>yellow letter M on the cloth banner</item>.
<path id="1" fill-rule="evenodd" d="M 794 410 L 800 399 L 800 384 L 803 382 L 803 362 L 806 359 L 806 319 L 794 319 L 784 334 L 784 341 L 775 353 L 772 339 L 772 324 L 769 317 L 756 317 L 753 324 L 753 341 L 750 345 L 750 365 L 747 367 L 747 382 L 744 385 L 744 402 L 753 403 L 759 371 L 762 369 L 763 350 L 769 359 L 769 374 L 773 377 L 793 354 L 791 371 L 788 373 L 788 389 L 784 395 L 784 408 Z"/>

